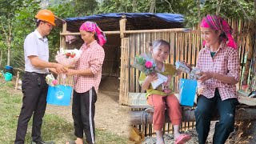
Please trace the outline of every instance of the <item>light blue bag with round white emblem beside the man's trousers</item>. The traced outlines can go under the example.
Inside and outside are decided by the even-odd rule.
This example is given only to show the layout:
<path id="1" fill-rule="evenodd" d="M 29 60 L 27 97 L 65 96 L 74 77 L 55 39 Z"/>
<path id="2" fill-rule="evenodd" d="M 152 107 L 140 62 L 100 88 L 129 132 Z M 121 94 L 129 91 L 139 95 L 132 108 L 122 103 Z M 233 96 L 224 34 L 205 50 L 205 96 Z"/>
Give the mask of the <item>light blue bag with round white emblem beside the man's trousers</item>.
<path id="1" fill-rule="evenodd" d="M 52 105 L 69 106 L 72 90 L 71 86 L 49 86 L 46 102 Z"/>

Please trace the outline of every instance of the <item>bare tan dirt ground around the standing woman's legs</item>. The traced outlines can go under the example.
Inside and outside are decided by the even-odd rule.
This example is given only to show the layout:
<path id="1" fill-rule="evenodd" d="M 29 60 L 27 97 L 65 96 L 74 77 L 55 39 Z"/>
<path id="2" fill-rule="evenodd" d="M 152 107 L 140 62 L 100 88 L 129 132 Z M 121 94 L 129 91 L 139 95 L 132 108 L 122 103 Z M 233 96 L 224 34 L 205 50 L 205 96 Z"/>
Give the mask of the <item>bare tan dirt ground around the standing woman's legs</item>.
<path id="1" fill-rule="evenodd" d="M 96 102 L 95 127 L 113 134 L 128 137 L 128 107 L 119 106 L 119 80 L 115 77 L 102 77 Z M 46 114 L 58 114 L 68 122 L 73 122 L 71 106 L 47 105 Z"/>

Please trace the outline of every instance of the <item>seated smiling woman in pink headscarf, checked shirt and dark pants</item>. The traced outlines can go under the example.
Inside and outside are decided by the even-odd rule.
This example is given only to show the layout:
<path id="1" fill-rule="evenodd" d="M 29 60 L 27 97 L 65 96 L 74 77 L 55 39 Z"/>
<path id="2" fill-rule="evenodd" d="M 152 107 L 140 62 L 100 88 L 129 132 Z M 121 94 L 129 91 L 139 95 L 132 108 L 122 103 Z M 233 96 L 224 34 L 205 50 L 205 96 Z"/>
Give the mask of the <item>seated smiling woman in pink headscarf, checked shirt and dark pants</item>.
<path id="1" fill-rule="evenodd" d="M 205 46 L 198 55 L 197 67 L 202 71 L 198 78 L 198 106 L 194 111 L 199 144 L 205 144 L 210 130 L 210 119 L 218 110 L 214 144 L 224 144 L 234 130 L 235 106 L 238 105 L 235 84 L 239 81 L 238 50 L 231 36 L 232 29 L 221 17 L 207 15 L 201 22 Z"/>

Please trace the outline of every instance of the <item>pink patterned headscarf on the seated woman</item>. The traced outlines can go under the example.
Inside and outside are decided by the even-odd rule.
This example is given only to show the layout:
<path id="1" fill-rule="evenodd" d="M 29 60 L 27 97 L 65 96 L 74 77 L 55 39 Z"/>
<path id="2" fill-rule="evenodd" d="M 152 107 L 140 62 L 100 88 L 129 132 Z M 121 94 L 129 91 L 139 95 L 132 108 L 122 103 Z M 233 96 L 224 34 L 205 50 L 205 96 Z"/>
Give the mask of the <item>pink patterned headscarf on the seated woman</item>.
<path id="1" fill-rule="evenodd" d="M 210 15 L 208 14 L 205 18 L 202 19 L 201 27 L 211 28 L 213 30 L 221 30 L 226 35 L 226 38 L 223 38 L 222 41 L 227 43 L 227 46 L 230 46 L 234 49 L 237 49 L 237 44 L 234 42 L 234 38 L 232 37 L 232 28 L 230 25 L 220 16 L 218 15 Z M 203 45 L 205 45 L 205 41 Z"/>

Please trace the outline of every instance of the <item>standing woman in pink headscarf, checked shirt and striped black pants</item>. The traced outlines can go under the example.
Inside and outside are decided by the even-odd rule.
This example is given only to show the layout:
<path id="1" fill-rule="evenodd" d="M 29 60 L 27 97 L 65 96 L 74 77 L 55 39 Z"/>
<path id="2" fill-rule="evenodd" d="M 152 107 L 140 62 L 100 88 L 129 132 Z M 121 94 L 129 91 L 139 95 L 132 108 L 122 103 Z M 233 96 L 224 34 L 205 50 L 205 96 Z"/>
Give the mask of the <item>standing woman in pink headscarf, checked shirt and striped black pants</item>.
<path id="1" fill-rule="evenodd" d="M 80 27 L 82 55 L 74 70 L 67 74 L 74 75 L 74 94 L 72 115 L 74 119 L 75 141 L 66 144 L 83 144 L 83 134 L 88 144 L 95 143 L 94 114 L 98 85 L 102 78 L 102 64 L 105 53 L 102 46 L 106 43 L 105 34 L 95 22 L 84 22 Z"/>

